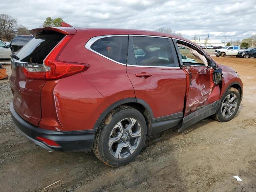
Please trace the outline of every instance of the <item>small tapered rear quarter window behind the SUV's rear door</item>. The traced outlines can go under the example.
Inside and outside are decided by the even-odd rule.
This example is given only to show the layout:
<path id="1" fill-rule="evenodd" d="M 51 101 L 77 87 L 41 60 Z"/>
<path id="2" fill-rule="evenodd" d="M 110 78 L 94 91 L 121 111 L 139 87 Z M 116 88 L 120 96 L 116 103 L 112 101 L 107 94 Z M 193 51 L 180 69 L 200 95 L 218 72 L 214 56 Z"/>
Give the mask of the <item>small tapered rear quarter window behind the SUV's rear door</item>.
<path id="1" fill-rule="evenodd" d="M 126 64 L 128 36 L 101 38 L 92 44 L 91 49 L 114 61 Z"/>

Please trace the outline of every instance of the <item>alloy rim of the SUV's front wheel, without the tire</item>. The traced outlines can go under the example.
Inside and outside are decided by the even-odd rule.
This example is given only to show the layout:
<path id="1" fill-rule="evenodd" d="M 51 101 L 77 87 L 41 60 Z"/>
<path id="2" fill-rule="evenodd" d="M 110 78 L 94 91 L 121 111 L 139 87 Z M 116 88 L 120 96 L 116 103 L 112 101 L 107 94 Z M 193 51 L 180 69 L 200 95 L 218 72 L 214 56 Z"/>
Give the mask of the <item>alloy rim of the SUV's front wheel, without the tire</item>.
<path id="1" fill-rule="evenodd" d="M 225 118 L 229 118 L 234 114 L 237 108 L 237 97 L 231 93 L 226 96 L 221 105 L 221 113 Z"/>

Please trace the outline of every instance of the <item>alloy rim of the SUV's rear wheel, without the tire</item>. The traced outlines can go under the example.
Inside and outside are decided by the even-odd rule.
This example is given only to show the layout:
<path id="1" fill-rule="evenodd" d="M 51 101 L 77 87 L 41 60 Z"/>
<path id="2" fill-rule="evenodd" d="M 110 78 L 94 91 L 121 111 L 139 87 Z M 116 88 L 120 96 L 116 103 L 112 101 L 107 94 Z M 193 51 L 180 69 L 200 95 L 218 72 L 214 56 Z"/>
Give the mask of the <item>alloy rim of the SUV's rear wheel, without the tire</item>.
<path id="1" fill-rule="evenodd" d="M 140 139 L 140 124 L 134 118 L 126 118 L 118 122 L 110 132 L 108 148 L 115 158 L 126 158 L 136 150 Z"/>

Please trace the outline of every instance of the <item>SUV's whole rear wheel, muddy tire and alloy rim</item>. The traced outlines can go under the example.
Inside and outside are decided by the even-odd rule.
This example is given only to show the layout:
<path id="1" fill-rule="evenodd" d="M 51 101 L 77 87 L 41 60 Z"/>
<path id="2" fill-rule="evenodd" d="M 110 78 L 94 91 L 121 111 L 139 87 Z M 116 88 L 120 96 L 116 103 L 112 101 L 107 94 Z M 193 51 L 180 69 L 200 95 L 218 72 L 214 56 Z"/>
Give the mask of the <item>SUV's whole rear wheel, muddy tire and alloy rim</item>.
<path id="1" fill-rule="evenodd" d="M 144 116 L 129 106 L 112 110 L 98 128 L 92 150 L 112 167 L 128 164 L 140 153 L 146 140 Z"/>

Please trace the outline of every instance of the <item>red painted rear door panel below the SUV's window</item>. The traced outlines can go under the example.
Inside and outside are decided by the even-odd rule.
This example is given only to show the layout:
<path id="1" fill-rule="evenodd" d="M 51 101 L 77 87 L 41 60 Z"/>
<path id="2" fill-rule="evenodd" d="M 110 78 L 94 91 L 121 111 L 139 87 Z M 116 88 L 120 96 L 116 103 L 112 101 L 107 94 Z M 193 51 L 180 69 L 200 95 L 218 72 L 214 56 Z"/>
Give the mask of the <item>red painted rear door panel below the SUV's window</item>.
<path id="1" fill-rule="evenodd" d="M 152 76 L 136 76 L 141 73 Z M 186 91 L 186 75 L 182 69 L 127 66 L 127 74 L 136 98 L 150 104 L 154 118 L 182 112 Z"/>

